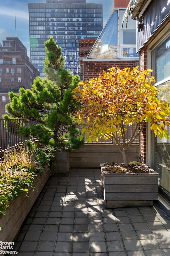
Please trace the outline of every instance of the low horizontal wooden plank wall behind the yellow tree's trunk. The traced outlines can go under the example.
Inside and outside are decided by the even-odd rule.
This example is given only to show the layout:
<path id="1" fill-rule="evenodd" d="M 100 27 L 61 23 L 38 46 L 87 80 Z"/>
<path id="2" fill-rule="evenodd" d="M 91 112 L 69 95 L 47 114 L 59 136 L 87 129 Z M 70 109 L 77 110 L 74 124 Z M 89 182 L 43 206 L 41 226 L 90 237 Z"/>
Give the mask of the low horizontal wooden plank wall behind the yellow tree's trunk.
<path id="1" fill-rule="evenodd" d="M 129 161 L 139 158 L 139 145 L 133 144 L 127 151 Z M 99 167 L 100 163 L 122 163 L 123 157 L 117 146 L 111 144 L 84 144 L 70 152 L 70 167 Z"/>

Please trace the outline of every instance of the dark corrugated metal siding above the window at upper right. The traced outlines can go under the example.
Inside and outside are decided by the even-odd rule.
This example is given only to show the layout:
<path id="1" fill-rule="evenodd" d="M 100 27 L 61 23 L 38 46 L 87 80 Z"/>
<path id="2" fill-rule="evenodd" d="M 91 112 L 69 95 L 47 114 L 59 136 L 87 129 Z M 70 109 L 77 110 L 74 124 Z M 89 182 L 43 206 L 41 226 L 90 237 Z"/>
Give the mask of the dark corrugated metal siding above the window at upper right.
<path id="1" fill-rule="evenodd" d="M 144 29 L 138 33 L 137 51 L 170 15 L 170 0 L 153 0 L 144 12 Z"/>

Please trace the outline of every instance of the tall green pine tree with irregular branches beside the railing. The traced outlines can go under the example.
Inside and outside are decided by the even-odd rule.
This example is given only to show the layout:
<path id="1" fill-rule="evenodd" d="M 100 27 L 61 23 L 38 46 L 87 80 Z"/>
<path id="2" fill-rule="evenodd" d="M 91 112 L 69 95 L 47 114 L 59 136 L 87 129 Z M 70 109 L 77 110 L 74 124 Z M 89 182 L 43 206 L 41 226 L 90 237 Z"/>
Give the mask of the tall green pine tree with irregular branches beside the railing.
<path id="1" fill-rule="evenodd" d="M 53 37 L 45 42 L 45 54 L 46 78 L 36 77 L 32 89 L 21 88 L 20 95 L 10 92 L 7 111 L 12 117 L 37 122 L 36 125 L 20 127 L 23 137 L 32 135 L 43 145 L 53 145 L 58 150 L 75 149 L 83 144 L 79 142 L 80 133 L 73 121 L 80 104 L 73 98 L 72 90 L 78 85 L 79 77 L 64 69 L 61 47 Z M 67 140 L 64 139 L 65 133 Z"/>

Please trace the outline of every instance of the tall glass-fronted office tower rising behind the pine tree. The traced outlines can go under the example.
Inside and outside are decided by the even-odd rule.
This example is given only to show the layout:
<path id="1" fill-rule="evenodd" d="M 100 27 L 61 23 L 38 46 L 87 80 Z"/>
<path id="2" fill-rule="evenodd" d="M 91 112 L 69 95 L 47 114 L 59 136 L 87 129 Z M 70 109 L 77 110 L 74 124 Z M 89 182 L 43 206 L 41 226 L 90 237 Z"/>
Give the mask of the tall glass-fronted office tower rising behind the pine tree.
<path id="1" fill-rule="evenodd" d="M 80 74 L 79 39 L 98 37 L 103 28 L 102 4 L 86 0 L 46 0 L 29 3 L 29 35 L 32 64 L 44 77 L 44 41 L 53 36 L 62 47 L 65 67 Z"/>

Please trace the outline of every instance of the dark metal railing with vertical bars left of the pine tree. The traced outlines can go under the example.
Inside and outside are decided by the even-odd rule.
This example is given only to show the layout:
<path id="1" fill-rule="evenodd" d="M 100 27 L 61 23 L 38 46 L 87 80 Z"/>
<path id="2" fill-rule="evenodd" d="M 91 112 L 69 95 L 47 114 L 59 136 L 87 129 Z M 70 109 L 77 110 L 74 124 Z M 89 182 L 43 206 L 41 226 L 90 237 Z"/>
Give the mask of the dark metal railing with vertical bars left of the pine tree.
<path id="1" fill-rule="evenodd" d="M 23 143 L 25 138 L 19 134 L 19 127 L 31 124 L 32 122 L 27 123 L 24 119 L 0 119 L 0 152 Z"/>

